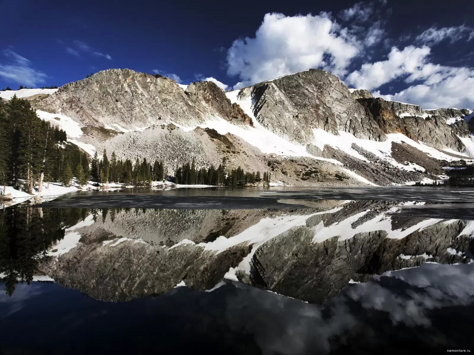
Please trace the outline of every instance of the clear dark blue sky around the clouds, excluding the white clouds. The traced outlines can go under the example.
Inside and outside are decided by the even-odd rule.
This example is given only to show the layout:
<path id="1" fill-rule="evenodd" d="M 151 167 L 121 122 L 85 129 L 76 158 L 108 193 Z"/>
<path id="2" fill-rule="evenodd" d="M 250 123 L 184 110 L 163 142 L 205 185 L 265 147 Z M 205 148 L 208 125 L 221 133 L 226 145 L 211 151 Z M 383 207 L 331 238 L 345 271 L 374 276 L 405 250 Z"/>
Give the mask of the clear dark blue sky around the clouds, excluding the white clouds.
<path id="1" fill-rule="evenodd" d="M 474 26 L 473 3 L 388 1 L 383 5 L 380 0 L 372 2 L 374 13 L 361 26 L 368 27 L 382 18 L 385 42 L 359 53 L 350 61 L 347 71 L 359 69 L 364 62 L 385 60 L 392 46 L 402 50 L 429 27 Z M 27 59 L 28 68 L 45 74 L 41 77 L 43 81 L 34 85 L 37 87 L 61 86 L 109 68 L 149 73 L 160 70 L 178 75 L 184 83 L 201 75 L 233 86 L 243 80 L 239 75 L 228 75 L 227 50 L 237 38 L 255 37 L 266 13 L 294 16 L 331 12 L 334 20 L 345 27 L 348 22 L 338 14 L 355 4 L 356 1 L 338 0 L 4 0 L 0 2 L 0 88 L 7 85 L 16 88 L 20 84 L 5 74 L 14 60 L 8 51 Z M 407 35 L 411 38 L 406 39 Z M 463 42 L 441 41 L 430 46 L 430 62 L 472 68 L 473 44 L 474 40 L 467 42 L 467 37 Z M 377 88 L 383 94 L 393 94 L 406 86 L 401 77 Z"/>

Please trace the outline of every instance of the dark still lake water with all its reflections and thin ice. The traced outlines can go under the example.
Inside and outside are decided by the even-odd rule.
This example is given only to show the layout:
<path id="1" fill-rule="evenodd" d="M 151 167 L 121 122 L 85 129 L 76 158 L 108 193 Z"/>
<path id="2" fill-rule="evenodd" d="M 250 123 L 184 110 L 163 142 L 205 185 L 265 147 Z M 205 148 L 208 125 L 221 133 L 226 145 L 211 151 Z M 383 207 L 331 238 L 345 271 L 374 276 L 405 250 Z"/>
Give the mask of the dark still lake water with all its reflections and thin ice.
<path id="1" fill-rule="evenodd" d="M 474 191 L 397 191 L 4 208 L 0 354 L 474 351 Z"/>

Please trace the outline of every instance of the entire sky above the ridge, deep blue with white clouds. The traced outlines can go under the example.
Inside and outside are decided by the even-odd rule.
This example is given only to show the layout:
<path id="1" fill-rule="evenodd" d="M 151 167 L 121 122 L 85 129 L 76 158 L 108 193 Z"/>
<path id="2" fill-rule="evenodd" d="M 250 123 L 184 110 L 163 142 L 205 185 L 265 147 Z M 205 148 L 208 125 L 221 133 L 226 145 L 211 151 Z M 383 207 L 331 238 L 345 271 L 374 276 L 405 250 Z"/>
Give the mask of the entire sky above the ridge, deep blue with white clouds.
<path id="1" fill-rule="evenodd" d="M 425 108 L 474 108 L 473 1 L 0 2 L 0 89 L 129 68 L 225 89 L 307 68 Z"/>

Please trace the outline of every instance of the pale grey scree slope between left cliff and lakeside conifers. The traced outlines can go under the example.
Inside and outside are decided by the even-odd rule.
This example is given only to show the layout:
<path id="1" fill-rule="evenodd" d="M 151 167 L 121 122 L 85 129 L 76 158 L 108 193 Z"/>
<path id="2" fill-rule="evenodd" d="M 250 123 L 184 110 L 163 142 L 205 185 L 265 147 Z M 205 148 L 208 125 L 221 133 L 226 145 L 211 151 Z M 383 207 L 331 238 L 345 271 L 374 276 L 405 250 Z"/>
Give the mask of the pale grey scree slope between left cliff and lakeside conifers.
<path id="1" fill-rule="evenodd" d="M 90 137 L 84 141 L 93 143 Z M 95 142 L 99 154 L 105 149 L 115 151 L 118 159 L 137 157 L 148 161 L 162 160 L 168 174 L 176 166 L 195 161 L 198 168 L 219 166 L 225 158 L 228 169 L 242 167 L 246 171 L 265 171 L 272 174 L 272 181 L 292 186 L 364 186 L 348 177 L 334 164 L 309 157 L 283 157 L 264 154 L 255 146 L 233 134 L 219 134 L 209 128 L 197 127 L 191 131 L 179 129 L 174 124 L 154 125 L 142 131 L 119 133 L 114 137 Z M 318 171 L 318 174 L 309 173 Z M 312 175 L 312 176 L 311 176 Z M 346 177 L 341 180 L 341 176 Z"/>

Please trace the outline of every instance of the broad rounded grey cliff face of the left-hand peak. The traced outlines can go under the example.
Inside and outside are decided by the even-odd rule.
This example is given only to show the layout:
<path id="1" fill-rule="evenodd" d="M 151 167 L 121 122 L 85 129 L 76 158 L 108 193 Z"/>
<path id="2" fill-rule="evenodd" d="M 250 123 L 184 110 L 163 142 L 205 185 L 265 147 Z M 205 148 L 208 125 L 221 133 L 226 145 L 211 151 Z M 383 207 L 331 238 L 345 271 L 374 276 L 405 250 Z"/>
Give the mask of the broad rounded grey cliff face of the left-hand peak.
<path id="1" fill-rule="evenodd" d="M 40 104 L 86 125 L 137 129 L 175 122 L 192 126 L 212 116 L 250 123 L 212 82 L 191 84 L 186 92 L 173 80 L 128 69 L 99 71 L 64 85 Z"/>

